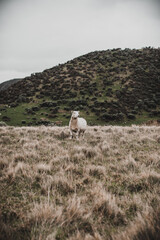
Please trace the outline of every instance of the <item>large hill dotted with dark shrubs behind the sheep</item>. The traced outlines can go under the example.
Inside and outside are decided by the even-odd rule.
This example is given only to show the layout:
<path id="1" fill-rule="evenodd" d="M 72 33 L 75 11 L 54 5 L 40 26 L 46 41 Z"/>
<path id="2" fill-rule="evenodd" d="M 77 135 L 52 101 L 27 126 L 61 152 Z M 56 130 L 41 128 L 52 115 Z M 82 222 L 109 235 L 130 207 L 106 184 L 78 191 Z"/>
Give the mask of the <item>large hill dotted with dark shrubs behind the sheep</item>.
<path id="1" fill-rule="evenodd" d="M 89 124 L 141 123 L 160 118 L 159 90 L 159 48 L 95 51 L 1 92 L 0 120 L 65 125 L 78 109 Z"/>

